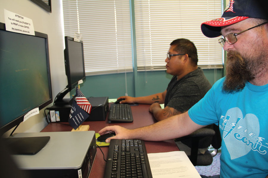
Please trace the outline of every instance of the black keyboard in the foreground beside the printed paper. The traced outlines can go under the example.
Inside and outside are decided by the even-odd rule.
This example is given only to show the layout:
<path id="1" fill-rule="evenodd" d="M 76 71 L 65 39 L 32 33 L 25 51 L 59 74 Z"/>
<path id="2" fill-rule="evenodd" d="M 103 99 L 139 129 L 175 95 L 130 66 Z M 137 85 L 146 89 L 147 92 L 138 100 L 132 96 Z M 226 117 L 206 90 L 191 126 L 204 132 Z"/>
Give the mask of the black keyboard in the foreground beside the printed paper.
<path id="1" fill-rule="evenodd" d="M 144 141 L 111 139 L 104 178 L 152 178 Z"/>

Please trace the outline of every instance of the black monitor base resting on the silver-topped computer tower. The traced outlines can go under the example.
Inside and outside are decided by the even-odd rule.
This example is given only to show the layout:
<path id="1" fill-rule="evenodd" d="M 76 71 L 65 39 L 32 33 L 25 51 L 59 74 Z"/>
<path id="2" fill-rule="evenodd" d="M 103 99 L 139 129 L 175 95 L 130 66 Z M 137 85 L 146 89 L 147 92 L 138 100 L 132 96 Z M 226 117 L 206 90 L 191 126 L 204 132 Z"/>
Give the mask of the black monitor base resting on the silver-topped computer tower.
<path id="1" fill-rule="evenodd" d="M 49 142 L 50 136 L 4 138 L 3 142 L 14 155 L 35 155 Z"/>

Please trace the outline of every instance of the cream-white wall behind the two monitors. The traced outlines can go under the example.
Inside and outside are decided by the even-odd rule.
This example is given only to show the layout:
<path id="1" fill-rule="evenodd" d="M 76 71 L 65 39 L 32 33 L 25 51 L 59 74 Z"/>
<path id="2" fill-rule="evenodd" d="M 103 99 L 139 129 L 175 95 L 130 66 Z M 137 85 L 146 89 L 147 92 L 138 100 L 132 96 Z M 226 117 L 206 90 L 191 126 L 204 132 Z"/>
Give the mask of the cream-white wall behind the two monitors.
<path id="1" fill-rule="evenodd" d="M 32 19 L 35 31 L 48 34 L 49 59 L 54 97 L 67 85 L 64 66 L 64 29 L 61 0 L 52 0 L 52 13 L 39 7 L 30 0 L 0 0 L 0 22 L 5 23 L 4 9 Z M 2 93 L 3 94 L 3 93 Z M 51 104 L 52 105 L 52 104 Z M 44 109 L 40 114 L 21 123 L 15 132 L 39 132 L 47 125 Z M 5 134 L 7 136 L 9 132 Z"/>

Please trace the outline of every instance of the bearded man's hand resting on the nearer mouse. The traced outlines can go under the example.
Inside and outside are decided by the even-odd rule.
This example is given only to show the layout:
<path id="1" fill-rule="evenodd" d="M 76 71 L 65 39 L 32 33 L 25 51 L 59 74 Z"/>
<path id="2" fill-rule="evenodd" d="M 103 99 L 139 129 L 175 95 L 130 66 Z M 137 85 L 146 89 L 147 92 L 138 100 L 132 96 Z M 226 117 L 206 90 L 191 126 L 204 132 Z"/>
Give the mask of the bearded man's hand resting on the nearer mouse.
<path id="1" fill-rule="evenodd" d="M 105 140 L 106 143 L 110 143 L 111 139 L 130 139 L 128 137 L 129 129 L 121 127 L 119 125 L 107 126 L 99 131 L 100 135 L 107 134 L 110 132 L 115 132 L 116 136 L 112 136 Z"/>

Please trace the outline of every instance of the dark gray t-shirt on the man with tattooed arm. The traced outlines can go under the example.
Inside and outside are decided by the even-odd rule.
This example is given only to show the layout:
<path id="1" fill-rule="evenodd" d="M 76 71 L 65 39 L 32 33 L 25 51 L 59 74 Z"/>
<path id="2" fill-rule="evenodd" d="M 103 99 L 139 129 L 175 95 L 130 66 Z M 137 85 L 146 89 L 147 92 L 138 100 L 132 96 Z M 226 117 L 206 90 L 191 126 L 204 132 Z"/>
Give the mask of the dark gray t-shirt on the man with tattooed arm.
<path id="1" fill-rule="evenodd" d="M 180 112 L 188 111 L 210 88 L 211 84 L 201 68 L 188 73 L 180 80 L 177 80 L 177 76 L 173 76 L 166 89 L 164 106 Z"/>

